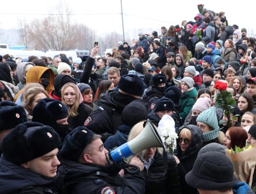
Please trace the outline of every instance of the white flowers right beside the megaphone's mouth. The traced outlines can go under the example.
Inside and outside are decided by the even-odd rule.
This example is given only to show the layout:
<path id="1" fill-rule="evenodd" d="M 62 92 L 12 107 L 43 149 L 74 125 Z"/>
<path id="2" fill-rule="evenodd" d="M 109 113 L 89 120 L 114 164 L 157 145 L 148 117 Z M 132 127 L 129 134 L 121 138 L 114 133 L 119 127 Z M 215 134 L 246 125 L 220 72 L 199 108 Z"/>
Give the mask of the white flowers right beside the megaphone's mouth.
<path id="1" fill-rule="evenodd" d="M 161 132 L 162 140 L 168 148 L 169 152 L 174 154 L 174 149 L 176 148 L 176 139 L 178 138 L 177 133 L 171 130 L 170 127 L 163 127 Z"/>

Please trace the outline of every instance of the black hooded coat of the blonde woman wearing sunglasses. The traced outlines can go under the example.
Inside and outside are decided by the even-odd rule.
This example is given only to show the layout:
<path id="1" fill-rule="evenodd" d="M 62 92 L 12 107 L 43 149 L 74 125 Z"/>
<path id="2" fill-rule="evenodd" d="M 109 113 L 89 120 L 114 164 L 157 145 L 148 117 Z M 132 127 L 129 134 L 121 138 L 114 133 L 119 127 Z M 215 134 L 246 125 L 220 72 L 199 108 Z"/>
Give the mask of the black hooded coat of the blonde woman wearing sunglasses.
<path id="1" fill-rule="evenodd" d="M 182 152 L 177 142 L 177 151 L 178 158 L 180 159 L 180 163 L 178 164 L 179 174 L 180 174 L 180 185 L 182 189 L 182 193 L 184 194 L 196 194 L 197 189 L 192 188 L 186 183 L 185 175 L 192 170 L 193 165 L 195 163 L 195 159 L 197 158 L 198 152 L 202 148 L 203 145 L 203 133 L 202 131 L 195 125 L 186 125 L 180 128 L 178 132 L 178 136 L 180 131 L 183 128 L 188 128 L 192 132 L 192 141 L 189 144 L 189 147 Z"/>

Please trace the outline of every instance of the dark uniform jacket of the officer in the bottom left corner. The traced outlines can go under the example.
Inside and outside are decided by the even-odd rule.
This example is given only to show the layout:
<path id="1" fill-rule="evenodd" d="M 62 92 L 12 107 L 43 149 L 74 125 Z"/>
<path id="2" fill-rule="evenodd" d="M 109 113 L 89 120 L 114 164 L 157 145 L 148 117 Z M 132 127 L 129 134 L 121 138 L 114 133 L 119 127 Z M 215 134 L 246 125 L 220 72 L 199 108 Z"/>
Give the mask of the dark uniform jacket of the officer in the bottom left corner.
<path id="1" fill-rule="evenodd" d="M 0 164 L 0 194 L 20 194 L 20 189 L 29 186 L 49 188 L 53 192 L 61 188 L 63 172 L 58 172 L 54 178 L 44 177 L 7 161 L 3 156 L 0 158 Z M 28 194 L 35 194 L 35 191 L 29 191 Z"/>

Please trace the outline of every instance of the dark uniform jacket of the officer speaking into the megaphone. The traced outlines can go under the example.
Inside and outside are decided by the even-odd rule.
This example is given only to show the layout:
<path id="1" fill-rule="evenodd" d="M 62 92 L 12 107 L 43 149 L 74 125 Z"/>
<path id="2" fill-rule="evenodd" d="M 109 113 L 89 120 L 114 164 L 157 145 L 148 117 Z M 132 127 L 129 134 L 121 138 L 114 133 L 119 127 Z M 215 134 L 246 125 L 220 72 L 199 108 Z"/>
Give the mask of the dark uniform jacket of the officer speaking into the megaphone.
<path id="1" fill-rule="evenodd" d="M 118 174 L 121 168 L 118 165 L 100 166 L 72 161 L 61 161 L 61 163 L 61 168 L 66 171 L 64 191 L 68 194 L 100 194 L 105 193 L 107 189 L 116 194 L 144 194 L 145 180 L 141 172 L 126 174 L 121 178 Z M 88 177 L 96 172 L 101 175 Z M 107 181 L 106 177 L 113 178 L 116 182 Z"/>

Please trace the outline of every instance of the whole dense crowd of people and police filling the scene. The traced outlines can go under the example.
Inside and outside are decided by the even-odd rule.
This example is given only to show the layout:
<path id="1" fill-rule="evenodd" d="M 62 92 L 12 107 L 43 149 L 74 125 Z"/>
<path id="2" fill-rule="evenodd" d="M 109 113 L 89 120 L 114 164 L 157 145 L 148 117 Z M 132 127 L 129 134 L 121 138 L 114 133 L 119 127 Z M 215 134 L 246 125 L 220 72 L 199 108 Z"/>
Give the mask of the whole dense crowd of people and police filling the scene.
<path id="1" fill-rule="evenodd" d="M 249 187 L 225 149 L 256 143 L 256 39 L 224 12 L 194 20 L 139 32 L 105 56 L 97 45 L 75 59 L 0 56 L 0 193 L 253 193 L 254 168 Z M 219 81 L 236 101 L 230 118 Z M 177 133 L 175 154 L 134 153 L 137 173 L 111 164 L 109 151 L 148 119 Z"/>

